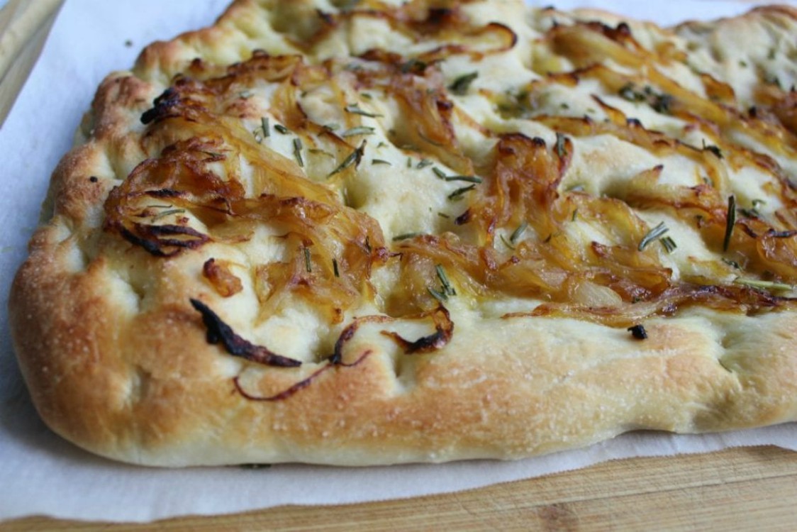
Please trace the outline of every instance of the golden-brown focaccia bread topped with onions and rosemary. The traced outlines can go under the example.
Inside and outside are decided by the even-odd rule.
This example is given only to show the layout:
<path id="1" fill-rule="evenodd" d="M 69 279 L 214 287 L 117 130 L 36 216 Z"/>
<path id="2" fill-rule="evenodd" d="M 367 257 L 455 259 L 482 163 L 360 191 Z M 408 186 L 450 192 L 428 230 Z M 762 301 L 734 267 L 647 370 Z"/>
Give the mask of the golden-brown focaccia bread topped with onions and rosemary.
<path id="1" fill-rule="evenodd" d="M 797 10 L 238 0 L 100 86 L 10 298 L 132 463 L 516 459 L 797 419 Z"/>

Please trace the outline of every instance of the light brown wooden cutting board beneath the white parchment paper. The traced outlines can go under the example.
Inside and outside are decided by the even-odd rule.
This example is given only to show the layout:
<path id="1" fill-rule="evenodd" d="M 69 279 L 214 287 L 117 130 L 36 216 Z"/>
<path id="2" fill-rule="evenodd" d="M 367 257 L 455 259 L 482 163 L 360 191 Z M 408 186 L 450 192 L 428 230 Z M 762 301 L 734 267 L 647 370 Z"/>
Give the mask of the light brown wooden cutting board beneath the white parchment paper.
<path id="1" fill-rule="evenodd" d="M 36 61 L 61 1 L 10 0 L 0 10 L 0 123 Z M 11 530 L 793 531 L 797 453 L 751 447 L 626 459 L 450 495 L 350 506 L 282 506 L 144 525 L 45 517 L 0 523 L 0 532 Z"/>

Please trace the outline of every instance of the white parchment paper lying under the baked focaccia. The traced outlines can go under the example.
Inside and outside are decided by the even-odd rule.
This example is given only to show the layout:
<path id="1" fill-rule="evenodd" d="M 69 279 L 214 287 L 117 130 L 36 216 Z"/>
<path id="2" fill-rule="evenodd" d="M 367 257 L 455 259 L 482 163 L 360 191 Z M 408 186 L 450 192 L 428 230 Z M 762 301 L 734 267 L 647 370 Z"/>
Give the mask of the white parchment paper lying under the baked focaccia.
<path id="1" fill-rule="evenodd" d="M 428 495 L 630 456 L 764 444 L 797 451 L 797 424 L 787 424 L 720 435 L 631 434 L 584 450 L 513 463 L 156 470 L 96 458 L 49 432 L 33 410 L 22 383 L 6 311 L 9 285 L 26 256 L 26 243 L 37 224 L 49 174 L 69 149 L 73 131 L 107 73 L 129 68 L 139 49 L 150 41 L 209 25 L 227 3 L 228 0 L 68 0 L 40 60 L 0 129 L 0 519 L 46 514 L 140 522 L 284 504 L 334 504 Z M 563 8 L 576 5 L 599 6 L 672 24 L 684 18 L 738 14 L 748 9 L 750 2 L 556 2 Z"/>

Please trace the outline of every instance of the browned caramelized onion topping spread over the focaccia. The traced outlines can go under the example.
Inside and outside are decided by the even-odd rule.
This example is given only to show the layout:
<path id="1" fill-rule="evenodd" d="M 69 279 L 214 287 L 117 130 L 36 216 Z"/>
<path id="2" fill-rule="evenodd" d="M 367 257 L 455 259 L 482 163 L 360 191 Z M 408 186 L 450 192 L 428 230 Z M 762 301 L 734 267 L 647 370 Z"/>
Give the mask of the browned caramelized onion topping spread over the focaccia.
<path id="1" fill-rule="evenodd" d="M 744 148 L 738 139 L 747 136 L 771 154 L 795 159 L 794 90 L 762 81 L 756 108 L 740 109 L 733 89 L 709 74 L 700 76 L 707 97 L 667 77 L 666 66 L 685 61 L 673 46 L 646 49 L 626 24 L 576 22 L 552 26 L 536 43 L 575 69 L 546 71 L 511 98 L 481 90 L 499 112 L 544 125 L 556 133 L 556 142 L 492 131 L 457 104 L 474 77 L 446 84 L 441 64 L 457 55 L 478 61 L 506 53 L 517 37 L 506 26 L 469 20 L 456 2 L 442 2 L 453 7 L 438 3 L 389 7 L 362 2 L 356 9 L 318 13 L 312 34 L 296 41 L 309 53 L 345 31 L 353 19 L 378 18 L 415 42 L 439 43 L 413 57 L 370 49 L 358 57 L 308 64 L 304 57 L 256 51 L 223 72 L 194 61 L 141 116 L 147 124 L 143 148 L 151 158 L 112 191 L 105 204 L 105 229 L 149 254 L 169 258 L 209 242 L 247 242 L 257 227 L 268 226 L 286 252 L 275 262 L 253 266 L 261 317 L 275 312 L 283 296 L 291 294 L 324 309 L 328 320 L 338 323 L 363 298 L 377 301 L 371 275 L 393 265 L 400 276 L 391 294 L 379 298 L 383 313 L 431 318 L 436 329 L 418 341 L 390 333 L 406 353 L 426 353 L 450 341 L 453 323 L 444 305 L 446 298 L 457 297 L 453 294 L 474 301 L 544 301 L 506 317 L 576 317 L 616 327 L 688 305 L 748 313 L 791 305 L 768 286 L 797 283 L 797 193 L 775 157 Z M 534 102 L 547 89 L 575 89 L 586 80 L 682 120 L 715 142 L 693 146 L 650 131 L 597 95 L 593 100 L 607 120 L 536 112 Z M 254 108 L 248 94 L 263 86 L 273 95 L 265 110 Z M 302 107 L 302 95 L 318 89 L 337 106 L 340 128 L 314 122 Z M 363 171 L 363 160 L 373 149 L 363 136 L 372 123 L 363 119 L 381 118 L 352 103 L 352 93 L 367 91 L 383 94 L 402 117 L 387 132 L 392 144 L 470 179 L 472 184 L 450 196 L 465 199 L 458 203 L 461 215 L 450 231 L 413 234 L 391 245 L 375 219 L 347 206 L 347 183 Z M 295 136 L 295 156 L 265 145 L 265 136 L 280 131 L 272 132 L 265 118 L 259 132 L 242 125 L 258 112 L 267 112 Z M 457 138 L 462 124 L 493 142 L 486 159 L 474 160 L 462 147 Z M 657 166 L 611 195 L 563 190 L 577 149 L 574 140 L 592 136 L 611 136 L 660 158 L 681 156 L 701 167 L 704 183 L 662 183 L 662 167 Z M 329 159 L 323 179 L 310 175 L 308 153 Z M 783 203 L 773 215 L 765 218 L 754 207 L 728 210 L 733 195 L 728 169 L 743 167 L 772 176 L 775 185 L 769 191 Z M 726 260 L 702 264 L 702 274 L 681 272 L 675 278 L 662 264 L 658 247 L 647 245 L 654 227 L 638 214 L 646 210 L 694 227 L 705 248 Z M 576 220 L 607 231 L 613 243 L 584 244 L 574 238 L 568 227 Z M 756 282 L 732 284 L 728 278 L 734 274 Z M 207 275 L 218 290 L 236 290 L 218 270 Z M 438 278 L 445 290 L 438 290 Z M 194 306 L 210 335 L 218 323 L 210 309 L 197 305 L 202 304 Z M 346 331 L 353 334 L 358 323 Z M 217 336 L 225 341 L 223 334 Z M 336 364 L 337 349 L 331 359 Z"/>

